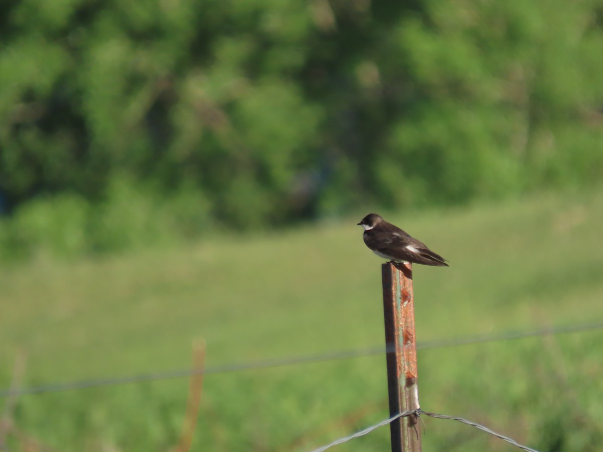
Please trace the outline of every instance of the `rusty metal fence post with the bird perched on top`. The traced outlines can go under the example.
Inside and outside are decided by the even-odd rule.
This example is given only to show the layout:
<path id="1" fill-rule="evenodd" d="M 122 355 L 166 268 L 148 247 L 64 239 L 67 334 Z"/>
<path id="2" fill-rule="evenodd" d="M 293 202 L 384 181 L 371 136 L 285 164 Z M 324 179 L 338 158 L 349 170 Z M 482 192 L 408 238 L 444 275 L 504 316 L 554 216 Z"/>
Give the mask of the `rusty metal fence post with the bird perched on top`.
<path id="1" fill-rule="evenodd" d="M 412 264 L 384 263 L 381 274 L 390 416 L 395 416 L 419 408 Z M 390 433 L 392 452 L 421 451 L 418 416 L 391 422 Z"/>

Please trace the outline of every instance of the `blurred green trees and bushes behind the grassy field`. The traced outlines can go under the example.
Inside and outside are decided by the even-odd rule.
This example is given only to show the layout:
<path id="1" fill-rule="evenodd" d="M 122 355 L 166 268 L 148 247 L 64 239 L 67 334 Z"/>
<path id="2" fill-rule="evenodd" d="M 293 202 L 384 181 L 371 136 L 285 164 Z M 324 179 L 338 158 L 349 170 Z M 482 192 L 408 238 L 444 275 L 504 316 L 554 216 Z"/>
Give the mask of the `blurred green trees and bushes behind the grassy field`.
<path id="1" fill-rule="evenodd" d="M 596 0 L 0 9 L 0 241 L 17 254 L 603 176 Z"/>

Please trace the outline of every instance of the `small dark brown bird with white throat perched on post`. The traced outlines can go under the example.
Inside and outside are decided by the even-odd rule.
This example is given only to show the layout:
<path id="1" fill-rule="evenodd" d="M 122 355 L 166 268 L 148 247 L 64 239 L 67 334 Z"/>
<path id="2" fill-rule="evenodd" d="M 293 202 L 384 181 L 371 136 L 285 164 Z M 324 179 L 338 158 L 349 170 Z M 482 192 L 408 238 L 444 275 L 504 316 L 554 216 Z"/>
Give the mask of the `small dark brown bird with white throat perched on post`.
<path id="1" fill-rule="evenodd" d="M 392 263 L 412 262 L 439 267 L 449 266 L 440 254 L 429 250 L 425 243 L 411 237 L 380 215 L 369 213 L 358 225 L 364 228 L 364 243 L 379 257 Z"/>

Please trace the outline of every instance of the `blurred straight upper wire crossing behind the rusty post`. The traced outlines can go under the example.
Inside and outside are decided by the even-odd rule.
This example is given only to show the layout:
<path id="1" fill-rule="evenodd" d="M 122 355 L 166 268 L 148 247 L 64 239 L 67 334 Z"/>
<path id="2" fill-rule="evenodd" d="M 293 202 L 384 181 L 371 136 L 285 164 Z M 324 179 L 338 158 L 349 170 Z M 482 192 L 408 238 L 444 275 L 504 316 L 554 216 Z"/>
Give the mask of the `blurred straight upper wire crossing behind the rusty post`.
<path id="1" fill-rule="evenodd" d="M 583 331 L 594 331 L 603 328 L 603 321 L 586 322 L 573 325 L 560 325 L 551 328 L 539 328 L 528 331 L 507 331 L 505 333 L 480 334 L 476 336 L 465 336 L 452 339 L 438 339 L 434 341 L 419 341 L 417 350 L 429 350 L 434 348 L 458 347 L 460 345 L 483 344 L 485 342 L 501 342 L 514 339 L 525 339 L 527 337 L 548 336 L 553 334 L 579 333 Z M 73 381 L 69 383 L 52 383 L 49 385 L 32 386 L 30 388 L 2 389 L 0 397 L 11 395 L 43 394 L 46 392 L 71 391 L 75 389 L 95 388 L 97 386 L 124 385 L 127 383 L 138 383 L 142 381 L 168 380 L 171 378 L 190 377 L 191 375 L 223 374 L 226 372 L 240 372 L 255 369 L 267 369 L 274 367 L 298 365 L 304 363 L 315 363 L 333 361 L 339 359 L 350 359 L 362 356 L 370 356 L 395 351 L 394 345 L 387 347 L 369 347 L 355 350 L 334 351 L 323 354 L 312 354 L 306 356 L 285 357 L 270 360 L 259 360 L 254 362 L 233 363 L 214 366 L 205 369 L 177 369 L 163 372 L 149 372 L 146 374 L 125 375 L 123 377 L 95 378 L 90 380 Z"/>

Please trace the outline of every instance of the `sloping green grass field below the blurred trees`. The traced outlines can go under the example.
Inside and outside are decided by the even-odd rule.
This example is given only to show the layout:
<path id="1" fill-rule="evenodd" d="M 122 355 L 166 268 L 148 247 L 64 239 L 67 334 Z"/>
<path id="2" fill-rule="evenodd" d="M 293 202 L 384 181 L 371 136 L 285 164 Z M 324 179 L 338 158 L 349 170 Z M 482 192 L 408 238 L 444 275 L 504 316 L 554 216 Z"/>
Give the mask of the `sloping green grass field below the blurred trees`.
<path id="1" fill-rule="evenodd" d="M 208 368 L 382 345 L 382 261 L 362 243 L 365 213 L 5 268 L 0 387 L 18 350 L 33 386 L 188 368 L 200 338 Z M 419 342 L 603 319 L 603 190 L 379 213 L 451 262 L 414 268 Z M 421 350 L 421 407 L 541 451 L 600 450 L 602 346 L 592 331 Z M 13 421 L 50 450 L 167 451 L 187 394 L 188 379 L 175 378 L 23 395 Z M 192 450 L 307 451 L 387 415 L 383 355 L 210 374 Z M 458 422 L 424 422 L 424 451 L 516 450 Z M 13 433 L 8 444 L 25 450 Z M 333 450 L 388 448 L 383 427 Z"/>

